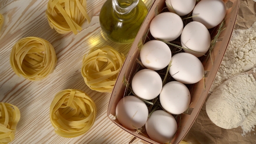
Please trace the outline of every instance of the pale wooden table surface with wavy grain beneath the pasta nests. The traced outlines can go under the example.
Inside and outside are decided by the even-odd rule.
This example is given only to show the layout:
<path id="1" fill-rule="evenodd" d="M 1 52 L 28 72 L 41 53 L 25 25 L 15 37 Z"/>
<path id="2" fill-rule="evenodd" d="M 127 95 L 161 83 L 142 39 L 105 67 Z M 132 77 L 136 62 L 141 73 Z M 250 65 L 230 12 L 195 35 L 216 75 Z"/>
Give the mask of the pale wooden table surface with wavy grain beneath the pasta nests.
<path id="1" fill-rule="evenodd" d="M 12 144 L 127 144 L 133 136 L 107 118 L 110 93 L 92 91 L 81 75 L 82 57 L 94 46 L 109 45 L 127 55 L 131 44 L 111 42 L 102 35 L 99 12 L 105 0 L 87 0 L 91 23 L 82 31 L 59 34 L 51 29 L 46 16 L 48 0 L 0 0 L 4 24 L 0 31 L 0 101 L 16 105 L 21 118 Z M 144 0 L 147 5 L 151 0 Z M 48 40 L 58 58 L 54 72 L 46 79 L 30 82 L 11 69 L 9 57 L 21 38 L 37 36 Z M 93 127 L 82 136 L 64 138 L 54 133 L 49 107 L 54 95 L 68 88 L 80 89 L 95 101 L 97 117 Z M 145 143 L 136 139 L 133 143 Z"/>

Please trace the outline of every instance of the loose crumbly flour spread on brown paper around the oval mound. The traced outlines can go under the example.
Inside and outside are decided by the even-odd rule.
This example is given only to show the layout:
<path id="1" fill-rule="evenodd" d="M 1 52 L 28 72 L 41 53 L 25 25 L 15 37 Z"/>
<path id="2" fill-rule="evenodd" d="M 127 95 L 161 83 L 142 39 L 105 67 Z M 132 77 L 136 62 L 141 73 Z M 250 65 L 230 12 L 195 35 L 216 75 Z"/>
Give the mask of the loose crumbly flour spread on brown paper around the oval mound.
<path id="1" fill-rule="evenodd" d="M 227 48 L 226 54 L 221 62 L 220 69 L 213 81 L 213 85 L 210 88 L 210 92 L 214 92 L 215 88 L 222 84 L 227 79 L 234 75 L 246 72 L 252 69 L 256 65 L 256 23 L 251 28 L 233 31 L 230 44 Z M 235 85 L 234 83 L 232 85 Z M 243 87 L 248 87 L 249 82 L 243 83 Z M 216 89 L 217 90 L 217 89 Z M 255 91 L 256 89 L 251 89 Z M 231 89 L 227 89 L 231 92 Z M 245 90 L 242 90 L 245 92 Z M 232 101 L 230 101 L 232 102 Z M 235 102 L 235 101 L 233 101 Z M 245 101 L 246 102 L 246 101 Z M 251 102 L 251 101 L 247 101 Z M 223 107 L 225 108 L 225 106 Z M 256 108 L 251 112 L 245 121 L 241 124 L 243 134 L 246 134 L 254 129 L 256 124 Z M 239 121 L 234 118 L 234 121 Z"/>

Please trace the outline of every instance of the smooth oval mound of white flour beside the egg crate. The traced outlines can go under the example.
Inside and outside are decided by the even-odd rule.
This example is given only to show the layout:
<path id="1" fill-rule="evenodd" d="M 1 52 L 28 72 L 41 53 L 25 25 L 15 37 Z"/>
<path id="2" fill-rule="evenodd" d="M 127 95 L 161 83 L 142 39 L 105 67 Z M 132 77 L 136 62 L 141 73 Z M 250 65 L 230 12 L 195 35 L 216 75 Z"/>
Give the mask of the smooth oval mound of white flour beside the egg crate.
<path id="1" fill-rule="evenodd" d="M 210 120 L 220 128 L 237 128 L 253 110 L 256 81 L 252 74 L 240 74 L 218 86 L 206 102 Z"/>

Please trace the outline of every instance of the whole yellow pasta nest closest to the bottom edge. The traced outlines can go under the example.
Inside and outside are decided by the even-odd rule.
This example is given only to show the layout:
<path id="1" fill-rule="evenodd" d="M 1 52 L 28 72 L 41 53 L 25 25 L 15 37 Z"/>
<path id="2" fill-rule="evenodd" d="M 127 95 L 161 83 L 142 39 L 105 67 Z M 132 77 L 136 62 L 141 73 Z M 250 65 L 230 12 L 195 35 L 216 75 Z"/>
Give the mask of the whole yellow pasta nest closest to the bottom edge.
<path id="1" fill-rule="evenodd" d="M 96 105 L 84 92 L 66 89 L 58 92 L 50 105 L 50 120 L 55 133 L 62 137 L 78 137 L 94 124 Z"/>

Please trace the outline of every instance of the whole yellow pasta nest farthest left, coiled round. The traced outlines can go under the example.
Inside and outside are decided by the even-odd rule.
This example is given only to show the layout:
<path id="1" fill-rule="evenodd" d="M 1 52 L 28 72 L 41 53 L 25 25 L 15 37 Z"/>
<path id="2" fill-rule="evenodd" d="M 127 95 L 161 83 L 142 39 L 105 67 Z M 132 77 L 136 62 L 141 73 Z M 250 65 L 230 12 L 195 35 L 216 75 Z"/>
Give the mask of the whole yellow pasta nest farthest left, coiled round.
<path id="1" fill-rule="evenodd" d="M 53 46 L 38 37 L 20 39 L 10 54 L 10 65 L 16 75 L 36 81 L 53 72 L 57 57 Z"/>

